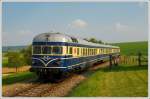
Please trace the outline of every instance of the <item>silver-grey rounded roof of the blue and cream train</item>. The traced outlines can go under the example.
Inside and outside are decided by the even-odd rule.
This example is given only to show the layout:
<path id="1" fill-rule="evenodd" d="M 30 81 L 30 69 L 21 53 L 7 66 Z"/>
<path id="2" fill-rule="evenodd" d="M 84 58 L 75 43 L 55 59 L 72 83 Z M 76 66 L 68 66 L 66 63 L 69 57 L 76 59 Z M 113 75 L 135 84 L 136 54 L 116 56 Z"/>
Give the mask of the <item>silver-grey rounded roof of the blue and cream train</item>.
<path id="1" fill-rule="evenodd" d="M 86 40 L 69 36 L 67 34 L 62 34 L 62 33 L 42 33 L 35 36 L 33 42 L 68 42 L 68 43 L 78 43 L 83 45 L 91 45 L 96 47 L 119 48 L 118 46 L 88 42 Z"/>

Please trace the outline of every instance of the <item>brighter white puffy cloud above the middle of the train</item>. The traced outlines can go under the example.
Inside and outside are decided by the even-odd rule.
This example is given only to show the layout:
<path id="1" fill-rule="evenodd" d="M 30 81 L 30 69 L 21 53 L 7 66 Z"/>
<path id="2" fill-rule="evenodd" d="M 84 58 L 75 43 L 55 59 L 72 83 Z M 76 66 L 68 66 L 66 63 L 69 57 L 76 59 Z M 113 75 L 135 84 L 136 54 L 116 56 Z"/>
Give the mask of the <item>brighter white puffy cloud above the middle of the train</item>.
<path id="1" fill-rule="evenodd" d="M 85 28 L 87 27 L 88 23 L 81 19 L 76 19 L 71 23 L 71 26 L 77 27 L 77 28 Z"/>

